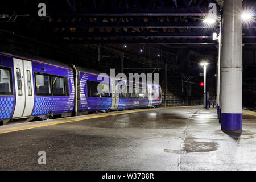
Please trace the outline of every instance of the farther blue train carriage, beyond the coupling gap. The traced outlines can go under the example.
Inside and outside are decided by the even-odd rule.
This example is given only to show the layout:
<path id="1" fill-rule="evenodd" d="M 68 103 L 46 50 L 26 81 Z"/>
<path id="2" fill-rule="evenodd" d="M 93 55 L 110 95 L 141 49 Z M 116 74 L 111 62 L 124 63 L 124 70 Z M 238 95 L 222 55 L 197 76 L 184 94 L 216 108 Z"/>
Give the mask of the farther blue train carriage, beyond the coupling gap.
<path id="1" fill-rule="evenodd" d="M 160 86 L 115 80 L 106 74 L 76 67 L 78 75 L 77 113 L 88 111 L 125 110 L 159 107 L 162 102 Z M 125 84 L 121 82 L 125 81 Z M 98 85 L 100 85 L 101 93 Z M 129 90 L 131 89 L 131 90 Z M 129 92 L 130 91 L 130 92 Z"/>

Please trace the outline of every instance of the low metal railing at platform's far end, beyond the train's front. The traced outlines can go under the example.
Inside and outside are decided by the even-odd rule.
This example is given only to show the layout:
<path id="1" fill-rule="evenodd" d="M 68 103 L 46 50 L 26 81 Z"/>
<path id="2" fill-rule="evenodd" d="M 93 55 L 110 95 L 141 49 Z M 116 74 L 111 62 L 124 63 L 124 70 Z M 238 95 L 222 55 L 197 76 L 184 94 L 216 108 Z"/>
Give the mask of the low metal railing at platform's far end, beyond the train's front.
<path id="1" fill-rule="evenodd" d="M 204 100 L 167 100 L 166 106 L 195 106 L 204 105 Z M 162 101 L 164 106 L 164 100 Z"/>

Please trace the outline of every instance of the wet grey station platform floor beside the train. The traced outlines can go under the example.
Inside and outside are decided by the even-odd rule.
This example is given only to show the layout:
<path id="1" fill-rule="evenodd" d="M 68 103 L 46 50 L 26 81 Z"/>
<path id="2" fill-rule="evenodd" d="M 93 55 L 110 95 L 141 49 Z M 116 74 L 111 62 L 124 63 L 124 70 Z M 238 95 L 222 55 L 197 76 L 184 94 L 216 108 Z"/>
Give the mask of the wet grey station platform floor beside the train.
<path id="1" fill-rule="evenodd" d="M 220 129 L 203 106 L 13 123 L 0 126 L 0 170 L 256 170 L 256 113 Z"/>

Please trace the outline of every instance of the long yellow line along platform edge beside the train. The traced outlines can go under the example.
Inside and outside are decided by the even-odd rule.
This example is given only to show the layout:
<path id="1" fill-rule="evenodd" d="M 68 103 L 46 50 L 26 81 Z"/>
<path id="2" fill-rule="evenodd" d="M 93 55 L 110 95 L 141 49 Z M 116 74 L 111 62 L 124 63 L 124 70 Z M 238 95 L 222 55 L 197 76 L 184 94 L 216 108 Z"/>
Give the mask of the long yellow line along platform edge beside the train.
<path id="1" fill-rule="evenodd" d="M 25 127 L 23 129 L 18 129 L 18 130 L 3 131 L 3 132 L 0 132 L 0 134 L 11 133 L 11 132 L 14 132 L 14 131 L 22 131 L 22 130 L 35 129 L 37 127 L 59 125 L 59 124 L 63 124 L 63 123 L 82 121 L 82 120 L 88 120 L 88 119 L 94 119 L 94 118 L 102 118 L 102 117 L 107 117 L 109 115 L 121 115 L 121 114 L 139 113 L 139 112 L 151 111 L 151 110 L 175 109 L 175 108 L 182 108 L 182 107 L 192 107 L 192 106 L 176 106 L 176 107 L 164 107 L 164 108 L 158 108 L 158 109 L 145 109 L 145 110 L 137 110 L 137 111 L 122 111 L 120 113 L 108 113 L 108 114 L 105 114 L 105 115 L 97 115 L 97 116 L 92 116 L 92 117 L 88 117 L 88 118 L 81 118 L 81 119 L 75 119 L 75 120 L 71 119 L 71 120 L 68 120 L 68 121 L 51 123 L 51 124 L 48 124 L 48 125 L 47 124 L 46 125 L 38 125 L 38 126 L 33 126 L 33 127 Z"/>

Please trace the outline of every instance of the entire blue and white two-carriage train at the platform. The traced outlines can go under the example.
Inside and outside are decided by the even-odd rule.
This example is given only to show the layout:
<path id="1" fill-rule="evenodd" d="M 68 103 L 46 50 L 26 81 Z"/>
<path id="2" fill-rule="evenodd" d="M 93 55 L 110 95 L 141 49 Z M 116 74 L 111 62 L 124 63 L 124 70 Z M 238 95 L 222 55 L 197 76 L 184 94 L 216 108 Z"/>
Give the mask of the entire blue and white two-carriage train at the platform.
<path id="1" fill-rule="evenodd" d="M 122 80 L 108 76 L 99 81 L 99 75 L 73 64 L 0 50 L 0 125 L 15 119 L 32 121 L 161 106 L 159 85 L 134 81 L 133 87 L 116 87 Z M 129 89 L 139 93 L 129 93 Z"/>

